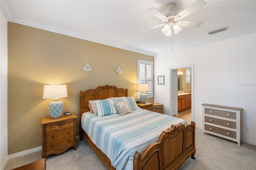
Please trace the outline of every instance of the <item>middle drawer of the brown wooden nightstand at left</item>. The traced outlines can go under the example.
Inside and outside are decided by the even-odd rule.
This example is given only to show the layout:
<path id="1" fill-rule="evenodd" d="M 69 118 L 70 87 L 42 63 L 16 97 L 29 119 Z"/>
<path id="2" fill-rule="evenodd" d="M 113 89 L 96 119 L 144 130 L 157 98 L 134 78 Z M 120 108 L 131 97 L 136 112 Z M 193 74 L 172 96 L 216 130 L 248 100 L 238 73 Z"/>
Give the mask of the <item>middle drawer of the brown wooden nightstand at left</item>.
<path id="1" fill-rule="evenodd" d="M 46 134 L 46 141 L 47 142 L 52 142 L 54 140 L 59 140 L 62 138 L 66 138 L 68 136 L 73 136 L 73 128 L 68 128 L 65 130 L 57 131 L 57 132 L 50 132 Z"/>

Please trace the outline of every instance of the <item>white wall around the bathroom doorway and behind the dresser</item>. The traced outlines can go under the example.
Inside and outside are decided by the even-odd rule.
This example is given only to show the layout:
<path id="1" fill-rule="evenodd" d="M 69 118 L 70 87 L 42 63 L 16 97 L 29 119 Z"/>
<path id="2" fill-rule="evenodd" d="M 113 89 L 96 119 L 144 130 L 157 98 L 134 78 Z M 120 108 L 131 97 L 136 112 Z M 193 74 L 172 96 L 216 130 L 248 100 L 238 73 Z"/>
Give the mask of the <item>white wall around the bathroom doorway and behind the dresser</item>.
<path id="1" fill-rule="evenodd" d="M 202 103 L 243 108 L 242 140 L 256 145 L 256 34 L 239 36 L 154 57 L 154 102 L 169 113 L 169 68 L 193 65 L 194 121 L 202 128 Z M 250 127 L 250 132 L 245 132 Z"/>

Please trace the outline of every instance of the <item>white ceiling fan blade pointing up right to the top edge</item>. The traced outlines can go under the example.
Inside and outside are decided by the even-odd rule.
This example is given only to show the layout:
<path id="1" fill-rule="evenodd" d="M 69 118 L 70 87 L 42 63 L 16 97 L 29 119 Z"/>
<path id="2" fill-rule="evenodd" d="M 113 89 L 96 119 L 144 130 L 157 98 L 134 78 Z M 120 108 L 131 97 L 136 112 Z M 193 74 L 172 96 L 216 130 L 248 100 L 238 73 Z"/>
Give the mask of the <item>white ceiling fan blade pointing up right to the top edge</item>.
<path id="1" fill-rule="evenodd" d="M 178 20 L 180 20 L 180 19 L 184 18 L 185 16 L 192 14 L 193 12 L 199 10 L 200 8 L 202 8 L 206 5 L 207 5 L 206 2 L 204 2 L 203 0 L 197 0 L 196 2 L 194 2 L 193 4 L 188 6 L 188 8 L 186 8 L 185 10 L 183 10 L 176 16 L 180 16 L 180 18 L 178 19 Z"/>

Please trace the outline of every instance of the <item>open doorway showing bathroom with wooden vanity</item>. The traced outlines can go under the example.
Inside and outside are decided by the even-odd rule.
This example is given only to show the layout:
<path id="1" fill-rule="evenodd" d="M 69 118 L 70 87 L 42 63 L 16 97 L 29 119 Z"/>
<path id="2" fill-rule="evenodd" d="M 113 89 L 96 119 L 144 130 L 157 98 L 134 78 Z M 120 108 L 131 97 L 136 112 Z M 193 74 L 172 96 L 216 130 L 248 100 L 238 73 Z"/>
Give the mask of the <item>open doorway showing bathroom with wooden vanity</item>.
<path id="1" fill-rule="evenodd" d="M 170 67 L 170 115 L 189 124 L 193 117 L 193 65 Z"/>

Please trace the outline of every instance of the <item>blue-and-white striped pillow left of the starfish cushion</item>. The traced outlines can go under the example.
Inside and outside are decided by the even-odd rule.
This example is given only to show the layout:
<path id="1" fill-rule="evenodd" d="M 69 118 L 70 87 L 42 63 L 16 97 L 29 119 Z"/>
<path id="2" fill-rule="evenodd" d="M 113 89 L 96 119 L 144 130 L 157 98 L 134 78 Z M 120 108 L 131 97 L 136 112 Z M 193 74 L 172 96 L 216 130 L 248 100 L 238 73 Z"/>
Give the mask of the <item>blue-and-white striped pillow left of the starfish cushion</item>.
<path id="1" fill-rule="evenodd" d="M 97 107 L 98 117 L 118 113 L 113 100 L 95 100 L 94 102 Z"/>

